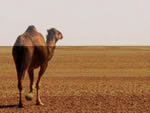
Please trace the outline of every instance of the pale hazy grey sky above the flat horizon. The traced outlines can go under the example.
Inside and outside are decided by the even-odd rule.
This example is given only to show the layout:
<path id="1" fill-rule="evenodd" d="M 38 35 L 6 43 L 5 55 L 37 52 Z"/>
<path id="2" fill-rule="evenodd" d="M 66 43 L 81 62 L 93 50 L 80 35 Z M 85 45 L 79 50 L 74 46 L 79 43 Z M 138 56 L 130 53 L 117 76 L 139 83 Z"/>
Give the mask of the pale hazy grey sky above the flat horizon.
<path id="1" fill-rule="evenodd" d="M 150 45 L 150 0 L 0 0 L 0 45 L 13 45 L 29 25 L 57 45 Z"/>

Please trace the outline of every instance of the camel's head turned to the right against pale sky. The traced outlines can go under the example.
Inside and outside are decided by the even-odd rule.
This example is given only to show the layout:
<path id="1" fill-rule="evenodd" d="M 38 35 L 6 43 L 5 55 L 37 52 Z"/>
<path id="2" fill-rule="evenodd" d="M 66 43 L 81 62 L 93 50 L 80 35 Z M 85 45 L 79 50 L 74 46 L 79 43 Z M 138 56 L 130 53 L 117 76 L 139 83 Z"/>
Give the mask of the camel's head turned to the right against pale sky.
<path id="1" fill-rule="evenodd" d="M 47 42 L 49 42 L 50 40 L 53 40 L 53 39 L 58 41 L 63 38 L 62 33 L 55 28 L 49 29 L 49 30 L 47 30 L 47 32 L 48 32 Z"/>

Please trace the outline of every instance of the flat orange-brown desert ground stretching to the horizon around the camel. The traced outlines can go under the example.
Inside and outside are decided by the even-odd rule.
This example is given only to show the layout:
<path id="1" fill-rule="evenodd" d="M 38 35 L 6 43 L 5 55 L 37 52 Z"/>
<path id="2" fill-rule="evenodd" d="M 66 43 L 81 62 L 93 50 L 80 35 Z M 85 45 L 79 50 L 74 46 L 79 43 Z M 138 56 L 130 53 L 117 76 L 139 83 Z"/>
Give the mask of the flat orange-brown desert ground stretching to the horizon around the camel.
<path id="1" fill-rule="evenodd" d="M 0 47 L 1 113 L 150 113 L 149 46 L 59 46 L 42 78 L 36 106 L 18 108 L 12 47 Z M 37 79 L 38 70 L 35 70 Z M 24 91 L 29 91 L 26 73 Z"/>

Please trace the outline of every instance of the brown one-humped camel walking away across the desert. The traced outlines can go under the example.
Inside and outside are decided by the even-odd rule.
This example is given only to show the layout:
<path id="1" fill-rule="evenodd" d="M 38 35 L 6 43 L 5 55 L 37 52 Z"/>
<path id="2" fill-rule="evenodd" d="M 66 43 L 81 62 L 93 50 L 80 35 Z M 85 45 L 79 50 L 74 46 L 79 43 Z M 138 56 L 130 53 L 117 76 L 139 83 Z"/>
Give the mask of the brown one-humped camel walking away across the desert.
<path id="1" fill-rule="evenodd" d="M 34 69 L 40 67 L 38 79 L 36 82 L 36 105 L 44 105 L 40 99 L 40 80 L 43 76 L 48 61 L 53 57 L 56 42 L 62 39 L 62 33 L 55 28 L 47 30 L 47 40 L 39 33 L 35 26 L 31 25 L 27 30 L 18 36 L 12 55 L 16 66 L 19 89 L 19 107 L 23 107 L 22 90 L 25 73 L 28 72 L 30 78 L 30 91 L 26 95 L 27 100 L 32 100 L 34 90 Z"/>

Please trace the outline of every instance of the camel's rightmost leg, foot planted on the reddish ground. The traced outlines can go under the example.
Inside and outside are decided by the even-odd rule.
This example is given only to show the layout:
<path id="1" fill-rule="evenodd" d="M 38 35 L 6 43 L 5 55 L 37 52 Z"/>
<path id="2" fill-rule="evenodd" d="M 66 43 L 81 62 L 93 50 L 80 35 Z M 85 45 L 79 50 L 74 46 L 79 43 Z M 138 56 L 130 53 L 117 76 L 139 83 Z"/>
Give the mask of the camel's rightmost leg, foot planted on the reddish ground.
<path id="1" fill-rule="evenodd" d="M 40 90 L 40 80 L 41 80 L 41 77 L 42 77 L 42 75 L 44 74 L 46 68 L 47 68 L 47 64 L 42 65 L 41 68 L 40 68 L 38 80 L 37 80 L 37 83 L 36 83 L 36 88 L 37 88 L 36 105 L 44 105 L 44 104 L 41 102 L 39 90 Z"/>

